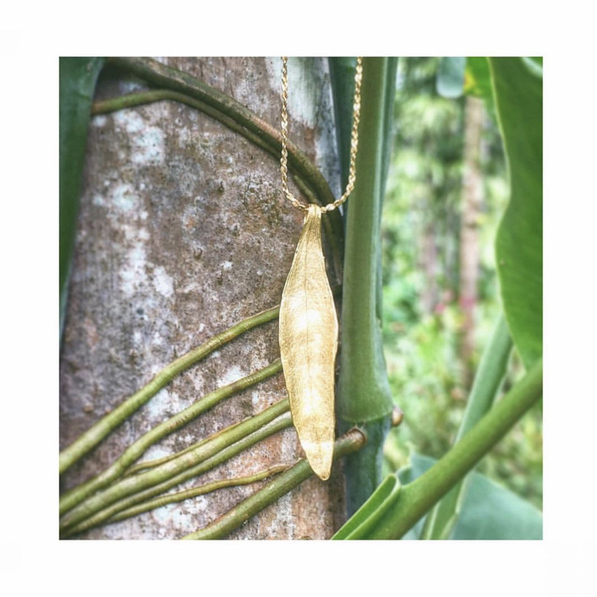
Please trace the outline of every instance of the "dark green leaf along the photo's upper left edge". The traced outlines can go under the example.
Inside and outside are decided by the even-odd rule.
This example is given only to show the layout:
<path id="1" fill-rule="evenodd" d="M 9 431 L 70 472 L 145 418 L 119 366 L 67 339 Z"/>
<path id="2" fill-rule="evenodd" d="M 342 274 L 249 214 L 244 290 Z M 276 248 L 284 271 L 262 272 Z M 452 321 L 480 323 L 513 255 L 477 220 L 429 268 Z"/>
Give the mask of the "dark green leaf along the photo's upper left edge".
<path id="1" fill-rule="evenodd" d="M 75 247 L 91 101 L 102 66 L 101 58 L 60 59 L 60 337 Z"/>

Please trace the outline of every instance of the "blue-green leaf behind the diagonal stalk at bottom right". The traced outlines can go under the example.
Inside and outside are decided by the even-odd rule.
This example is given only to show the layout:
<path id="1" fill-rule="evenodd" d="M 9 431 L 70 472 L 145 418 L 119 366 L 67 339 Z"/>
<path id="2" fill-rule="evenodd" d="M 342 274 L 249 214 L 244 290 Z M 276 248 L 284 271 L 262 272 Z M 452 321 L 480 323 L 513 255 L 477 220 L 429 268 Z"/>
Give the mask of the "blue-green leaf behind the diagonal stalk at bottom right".
<path id="1" fill-rule="evenodd" d="M 435 464 L 434 458 L 413 454 L 411 464 L 398 472 L 402 485 L 421 476 Z M 418 539 L 423 521 L 403 539 Z M 532 504 L 480 473 L 472 473 L 453 539 L 541 539 L 543 516 Z"/>

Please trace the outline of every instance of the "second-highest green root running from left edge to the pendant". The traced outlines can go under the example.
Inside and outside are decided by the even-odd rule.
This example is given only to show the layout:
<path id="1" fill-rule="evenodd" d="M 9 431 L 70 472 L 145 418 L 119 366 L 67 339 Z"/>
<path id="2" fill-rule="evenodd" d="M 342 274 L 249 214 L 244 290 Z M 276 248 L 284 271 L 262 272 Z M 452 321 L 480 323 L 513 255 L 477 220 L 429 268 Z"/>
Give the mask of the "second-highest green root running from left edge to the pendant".
<path id="1" fill-rule="evenodd" d="M 125 470 L 127 470 L 131 464 L 138 460 L 147 450 L 147 448 L 158 442 L 160 439 L 170 435 L 170 433 L 173 433 L 177 429 L 180 429 L 180 427 L 190 423 L 190 421 L 198 417 L 200 414 L 205 413 L 205 411 L 214 407 L 223 399 L 229 398 L 229 396 L 232 396 L 236 392 L 241 392 L 241 390 L 254 386 L 260 381 L 275 376 L 276 374 L 280 373 L 280 371 L 282 371 L 282 364 L 280 359 L 277 359 L 272 364 L 267 365 L 267 367 L 264 367 L 255 373 L 251 373 L 246 377 L 242 377 L 237 381 L 233 381 L 227 386 L 220 387 L 219 389 L 210 392 L 201 400 L 193 402 L 190 407 L 185 408 L 183 411 L 180 411 L 180 413 L 177 413 L 173 417 L 165 420 L 163 423 L 153 427 L 152 430 L 148 431 L 139 439 L 137 439 L 137 441 L 133 442 L 133 444 L 131 444 L 106 470 L 104 470 L 104 472 L 96 475 L 93 479 L 78 485 L 64 494 L 64 496 L 61 496 L 60 515 L 68 512 L 77 504 L 81 503 L 81 501 L 83 501 L 85 498 L 91 496 L 96 491 L 106 487 L 121 477 Z M 215 441 L 211 443 L 215 443 Z M 201 448 L 202 447 L 196 448 L 195 451 L 201 450 Z M 183 458 L 184 456 L 185 455 L 183 454 L 177 460 Z M 161 466 L 167 466 L 167 464 L 168 463 L 165 463 Z"/>

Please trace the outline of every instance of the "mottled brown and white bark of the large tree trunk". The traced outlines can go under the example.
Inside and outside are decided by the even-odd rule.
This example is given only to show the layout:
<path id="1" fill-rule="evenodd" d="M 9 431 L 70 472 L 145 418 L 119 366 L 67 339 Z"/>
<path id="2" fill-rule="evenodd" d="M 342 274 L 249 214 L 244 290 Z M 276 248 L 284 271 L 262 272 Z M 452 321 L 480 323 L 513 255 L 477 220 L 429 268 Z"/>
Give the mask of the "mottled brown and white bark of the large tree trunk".
<path id="1" fill-rule="evenodd" d="M 279 59 L 162 61 L 278 127 Z M 327 63 L 293 59 L 289 75 L 291 137 L 338 193 Z M 145 88 L 143 82 L 104 74 L 97 97 L 138 88 Z M 279 162 L 201 112 L 162 101 L 95 116 L 61 349 L 60 447 L 176 356 L 278 304 L 302 219 L 282 198 Z M 176 378 L 67 471 L 61 488 L 100 472 L 142 433 L 211 390 L 274 361 L 277 337 L 277 322 L 257 328 Z M 143 459 L 181 450 L 285 396 L 280 374 L 221 402 Z M 300 456 L 296 432 L 288 429 L 199 481 L 248 475 Z M 171 504 L 82 537 L 177 538 L 261 485 Z M 231 538 L 327 538 L 343 519 L 343 476 L 336 463 L 329 482 L 309 479 Z"/>

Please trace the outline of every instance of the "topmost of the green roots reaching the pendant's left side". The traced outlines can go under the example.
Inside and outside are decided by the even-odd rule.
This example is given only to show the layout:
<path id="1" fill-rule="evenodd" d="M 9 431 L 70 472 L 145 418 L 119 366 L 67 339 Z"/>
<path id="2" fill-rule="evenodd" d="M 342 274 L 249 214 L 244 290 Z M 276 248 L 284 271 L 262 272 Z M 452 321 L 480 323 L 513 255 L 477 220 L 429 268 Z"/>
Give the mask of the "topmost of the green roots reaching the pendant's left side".
<path id="1" fill-rule="evenodd" d="M 188 369 L 192 365 L 204 359 L 214 350 L 219 349 L 224 344 L 238 338 L 248 330 L 252 330 L 258 325 L 263 325 L 273 321 L 278 317 L 280 307 L 267 309 L 257 315 L 244 319 L 228 330 L 210 338 L 201 346 L 196 347 L 185 355 L 171 362 L 162 369 L 146 386 L 127 398 L 121 405 L 116 407 L 111 413 L 101 418 L 93 427 L 79 436 L 69 447 L 60 453 L 60 473 L 67 470 L 79 458 L 82 458 L 92 448 L 96 447 L 113 429 L 119 426 L 124 420 L 139 410 L 144 404 L 156 395 L 162 388 L 167 386 L 174 377 Z"/>

